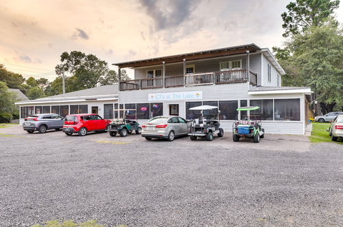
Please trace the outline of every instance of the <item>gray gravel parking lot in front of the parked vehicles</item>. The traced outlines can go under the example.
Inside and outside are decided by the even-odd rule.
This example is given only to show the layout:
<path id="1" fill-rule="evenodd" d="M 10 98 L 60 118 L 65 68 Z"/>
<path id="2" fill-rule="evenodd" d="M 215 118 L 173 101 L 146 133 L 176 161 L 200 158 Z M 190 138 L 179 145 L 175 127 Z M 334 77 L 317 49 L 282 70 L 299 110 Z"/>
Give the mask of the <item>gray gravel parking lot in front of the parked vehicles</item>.
<path id="1" fill-rule="evenodd" d="M 0 226 L 342 226 L 343 147 L 0 129 Z"/>

